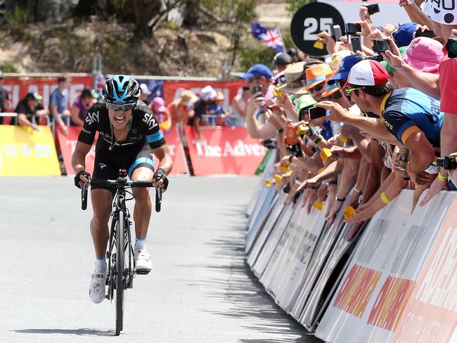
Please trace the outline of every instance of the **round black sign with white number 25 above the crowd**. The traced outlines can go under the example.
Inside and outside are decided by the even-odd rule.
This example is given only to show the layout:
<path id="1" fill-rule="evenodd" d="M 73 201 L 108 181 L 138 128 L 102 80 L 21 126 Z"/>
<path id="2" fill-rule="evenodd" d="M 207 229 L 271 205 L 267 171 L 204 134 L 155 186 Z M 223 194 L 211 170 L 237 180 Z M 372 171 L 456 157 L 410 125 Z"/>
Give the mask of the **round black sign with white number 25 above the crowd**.
<path id="1" fill-rule="evenodd" d="M 317 34 L 322 31 L 331 33 L 333 25 L 340 25 L 345 31 L 345 20 L 340 12 L 329 4 L 313 2 L 295 12 L 290 22 L 290 36 L 295 46 L 309 56 L 328 55 L 326 48 L 315 48 Z"/>

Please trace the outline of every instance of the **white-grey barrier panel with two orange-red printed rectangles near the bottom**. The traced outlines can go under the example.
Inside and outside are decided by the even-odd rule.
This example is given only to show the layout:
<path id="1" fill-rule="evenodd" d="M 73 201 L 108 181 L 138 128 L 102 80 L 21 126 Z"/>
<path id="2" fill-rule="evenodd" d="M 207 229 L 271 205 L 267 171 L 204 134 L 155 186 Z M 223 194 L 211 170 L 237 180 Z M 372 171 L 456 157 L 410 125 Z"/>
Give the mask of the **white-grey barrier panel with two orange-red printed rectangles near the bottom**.
<path id="1" fill-rule="evenodd" d="M 392 342 L 453 197 L 440 193 L 411 214 L 413 191 L 402 190 L 373 217 L 316 329 L 317 337 L 332 343 Z"/>

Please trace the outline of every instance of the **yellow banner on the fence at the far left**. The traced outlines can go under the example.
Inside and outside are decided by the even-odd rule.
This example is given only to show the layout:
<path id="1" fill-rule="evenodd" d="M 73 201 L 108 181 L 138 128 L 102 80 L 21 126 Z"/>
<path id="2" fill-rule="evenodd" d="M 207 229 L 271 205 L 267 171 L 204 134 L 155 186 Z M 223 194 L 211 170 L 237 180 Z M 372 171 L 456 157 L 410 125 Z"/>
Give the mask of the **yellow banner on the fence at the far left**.
<path id="1" fill-rule="evenodd" d="M 59 176 L 51 128 L 0 125 L 0 175 Z"/>

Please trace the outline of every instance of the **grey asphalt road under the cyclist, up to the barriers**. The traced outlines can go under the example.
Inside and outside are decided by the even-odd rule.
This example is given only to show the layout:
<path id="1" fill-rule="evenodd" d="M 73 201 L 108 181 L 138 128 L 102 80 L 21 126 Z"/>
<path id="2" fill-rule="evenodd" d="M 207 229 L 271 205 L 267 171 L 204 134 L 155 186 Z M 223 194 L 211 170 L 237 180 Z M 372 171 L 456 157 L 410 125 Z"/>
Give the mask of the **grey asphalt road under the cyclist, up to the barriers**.
<path id="1" fill-rule="evenodd" d="M 72 178 L 0 178 L 0 342 L 321 342 L 304 334 L 245 264 L 245 206 L 257 179 L 174 178 L 153 214 L 154 269 L 115 304 L 92 304 L 91 209 Z M 90 207 L 90 205 L 89 205 Z"/>

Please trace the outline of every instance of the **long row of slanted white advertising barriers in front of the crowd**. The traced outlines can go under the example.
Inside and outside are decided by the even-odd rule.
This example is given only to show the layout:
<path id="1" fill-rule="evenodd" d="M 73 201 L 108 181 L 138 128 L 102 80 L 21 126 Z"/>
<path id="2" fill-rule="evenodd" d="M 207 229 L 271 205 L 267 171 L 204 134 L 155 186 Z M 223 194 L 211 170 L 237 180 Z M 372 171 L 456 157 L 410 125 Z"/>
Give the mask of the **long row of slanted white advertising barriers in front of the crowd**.
<path id="1" fill-rule="evenodd" d="M 442 192 L 411 214 L 402 190 L 362 226 L 284 205 L 266 187 L 248 206 L 247 264 L 276 304 L 326 342 L 457 342 L 457 197 Z M 343 204 L 341 209 L 345 209 Z"/>

